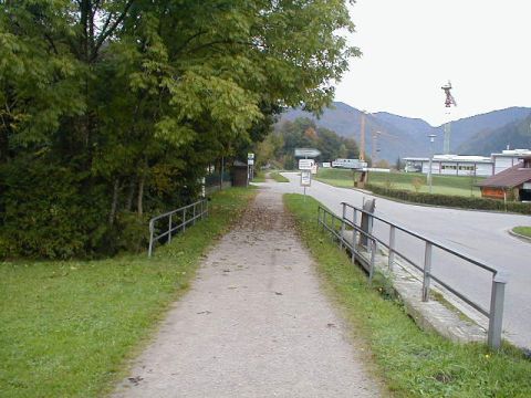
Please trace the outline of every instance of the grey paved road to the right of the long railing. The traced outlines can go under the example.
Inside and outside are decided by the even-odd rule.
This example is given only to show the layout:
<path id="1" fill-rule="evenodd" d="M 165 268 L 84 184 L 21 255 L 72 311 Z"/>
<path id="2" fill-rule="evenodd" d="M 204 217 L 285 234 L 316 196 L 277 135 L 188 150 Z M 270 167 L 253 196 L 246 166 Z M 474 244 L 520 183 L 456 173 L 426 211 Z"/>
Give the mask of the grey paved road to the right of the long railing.
<path id="1" fill-rule="evenodd" d="M 300 177 L 296 174 L 284 175 L 290 184 L 270 184 L 270 188 L 302 193 Z M 341 214 L 342 201 L 361 207 L 364 197 L 371 198 L 353 189 L 334 188 L 319 181 L 312 181 L 308 195 L 337 214 Z M 376 213 L 508 272 L 504 334 L 514 344 L 531 348 L 531 243 L 508 233 L 514 226 L 531 226 L 531 217 L 405 205 L 382 198 L 376 199 Z M 375 227 L 379 228 L 381 233 L 387 233 L 384 228 Z M 399 234 L 397 243 L 398 248 L 405 248 L 406 254 L 421 263 L 424 245 Z M 467 292 L 485 308 L 489 307 L 489 273 L 450 259 L 437 250 L 434 252 L 433 272 L 442 281 Z"/>

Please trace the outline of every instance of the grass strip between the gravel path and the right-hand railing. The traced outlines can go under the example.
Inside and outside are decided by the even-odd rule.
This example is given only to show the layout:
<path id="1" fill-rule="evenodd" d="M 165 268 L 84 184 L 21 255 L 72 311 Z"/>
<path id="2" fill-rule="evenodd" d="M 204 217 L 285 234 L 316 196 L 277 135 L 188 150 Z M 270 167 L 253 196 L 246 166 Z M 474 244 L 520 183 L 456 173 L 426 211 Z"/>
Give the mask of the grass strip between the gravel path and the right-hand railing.
<path id="1" fill-rule="evenodd" d="M 371 346 L 378 373 L 397 397 L 530 397 L 531 362 L 509 345 L 456 344 L 420 331 L 403 306 L 382 295 L 386 284 L 353 266 L 346 253 L 317 228 L 313 198 L 287 195 L 296 228 L 317 262 L 332 296 L 356 334 Z M 384 281 L 383 279 L 379 279 Z"/>

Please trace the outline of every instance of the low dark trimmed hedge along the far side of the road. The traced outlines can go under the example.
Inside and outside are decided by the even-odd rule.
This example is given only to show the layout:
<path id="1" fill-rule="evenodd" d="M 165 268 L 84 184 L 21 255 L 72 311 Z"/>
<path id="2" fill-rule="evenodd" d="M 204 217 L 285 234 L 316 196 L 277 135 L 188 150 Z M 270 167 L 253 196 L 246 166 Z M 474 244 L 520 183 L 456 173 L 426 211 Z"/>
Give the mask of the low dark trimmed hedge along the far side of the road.
<path id="1" fill-rule="evenodd" d="M 460 209 L 510 211 L 522 214 L 531 214 L 531 203 L 512 201 L 503 202 L 502 200 L 496 199 L 413 192 L 400 189 L 389 189 L 372 184 L 365 185 L 365 188 L 376 195 L 382 195 L 385 197 L 415 203 L 444 206 Z"/>

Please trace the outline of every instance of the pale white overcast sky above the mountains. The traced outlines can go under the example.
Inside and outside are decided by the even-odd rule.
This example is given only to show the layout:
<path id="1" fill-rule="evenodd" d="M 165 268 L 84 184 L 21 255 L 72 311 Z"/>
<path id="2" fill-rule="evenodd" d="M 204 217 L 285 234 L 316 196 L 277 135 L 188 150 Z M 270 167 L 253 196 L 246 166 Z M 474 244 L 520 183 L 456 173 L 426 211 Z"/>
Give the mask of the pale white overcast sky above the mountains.
<path id="1" fill-rule="evenodd" d="M 437 126 L 451 81 L 452 119 L 531 106 L 530 0 L 357 0 L 351 17 L 363 56 L 336 101 Z"/>

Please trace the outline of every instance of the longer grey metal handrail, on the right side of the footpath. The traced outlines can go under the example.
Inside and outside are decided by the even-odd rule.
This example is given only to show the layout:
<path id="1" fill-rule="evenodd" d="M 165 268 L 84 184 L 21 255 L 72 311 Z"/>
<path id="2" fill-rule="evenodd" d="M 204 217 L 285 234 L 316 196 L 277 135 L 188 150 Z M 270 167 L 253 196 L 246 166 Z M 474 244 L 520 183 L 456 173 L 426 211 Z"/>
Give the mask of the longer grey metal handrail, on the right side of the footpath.
<path id="1" fill-rule="evenodd" d="M 326 229 L 329 232 L 332 232 L 334 237 L 340 241 L 341 247 L 346 247 L 351 249 L 351 253 L 353 255 L 353 260 L 355 258 L 362 258 L 365 262 L 369 264 L 369 281 L 372 280 L 372 274 L 374 272 L 374 251 L 376 248 L 376 244 L 379 243 L 383 247 L 388 249 L 388 268 L 393 268 L 394 259 L 395 255 L 398 255 L 403 260 L 405 260 L 407 263 L 413 265 L 415 269 L 420 271 L 423 273 L 423 301 L 427 302 L 429 301 L 429 284 L 430 281 L 434 280 L 436 283 L 445 287 L 447 291 L 459 297 L 462 302 L 466 304 L 470 305 L 472 308 L 478 311 L 480 314 L 487 316 L 489 318 L 489 328 L 488 328 L 488 345 L 491 348 L 499 348 L 501 345 L 501 326 L 502 326 L 502 317 L 503 317 L 503 298 L 504 298 L 504 286 L 508 282 L 507 275 L 503 272 L 500 272 L 499 270 L 494 269 L 493 266 L 486 264 L 483 261 L 480 261 L 478 259 L 475 259 L 468 254 L 461 253 L 455 249 L 448 248 L 444 243 L 440 243 L 438 241 L 435 241 L 433 239 L 423 237 L 421 234 L 412 231 L 405 227 L 398 226 L 395 222 L 392 222 L 389 220 L 384 219 L 383 217 L 375 216 L 374 213 L 360 209 L 353 205 L 342 202 L 343 206 L 343 216 L 336 216 L 333 213 L 331 210 L 326 209 L 323 206 L 319 206 L 317 209 L 317 223 L 323 226 L 323 229 Z M 353 213 L 353 220 L 350 220 L 346 218 L 346 209 L 350 208 L 354 211 Z M 361 227 L 356 224 L 357 220 L 357 212 L 361 214 L 365 214 L 371 220 L 378 220 L 387 226 L 389 226 L 389 239 L 388 242 L 385 241 L 384 239 L 381 239 L 372 233 L 372 230 L 364 231 Z M 330 228 L 326 224 L 326 219 L 329 218 L 332 220 L 332 228 Z M 341 222 L 341 230 L 336 231 L 334 228 L 335 220 L 339 220 Z M 372 224 L 372 222 L 371 222 Z M 350 227 L 353 229 L 353 239 L 352 243 L 348 242 L 348 240 L 345 239 L 345 228 Z M 405 254 L 400 253 L 398 250 L 395 248 L 395 233 L 396 230 L 403 231 L 408 235 L 412 235 L 414 238 L 417 238 L 418 240 L 423 241 L 425 243 L 425 259 L 424 259 L 424 264 L 419 265 L 412 259 L 407 258 Z M 357 234 L 364 235 L 366 239 L 371 240 L 371 260 L 367 260 L 361 255 L 361 252 L 356 249 L 357 245 Z M 483 308 L 479 303 L 476 303 L 470 297 L 467 297 L 465 293 L 459 292 L 456 287 L 450 286 L 448 283 L 445 283 L 441 281 L 439 277 L 435 276 L 431 273 L 431 252 L 433 248 L 438 248 L 449 254 L 452 254 L 461 260 L 467 261 L 468 263 L 471 263 L 482 270 L 486 270 L 492 274 L 492 287 L 491 287 L 491 300 L 490 300 L 490 308 L 486 310 Z M 362 262 L 363 264 L 363 262 Z"/>

